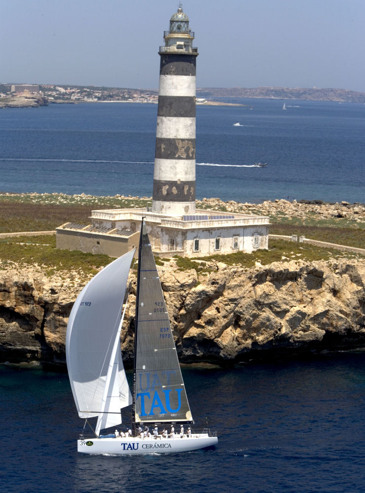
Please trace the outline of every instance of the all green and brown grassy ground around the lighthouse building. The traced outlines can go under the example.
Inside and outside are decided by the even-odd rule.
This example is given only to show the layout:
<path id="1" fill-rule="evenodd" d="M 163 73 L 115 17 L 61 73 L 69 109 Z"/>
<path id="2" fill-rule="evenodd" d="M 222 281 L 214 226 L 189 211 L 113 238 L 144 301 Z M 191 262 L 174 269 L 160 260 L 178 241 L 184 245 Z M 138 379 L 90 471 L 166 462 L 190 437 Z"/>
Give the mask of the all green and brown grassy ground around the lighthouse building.
<path id="1" fill-rule="evenodd" d="M 148 198 L 0 194 L 0 233 L 54 230 L 67 221 L 88 224 L 88 218 L 93 209 L 146 207 L 147 205 L 150 205 Z M 285 219 L 283 216 L 272 217 L 271 222 L 273 223 L 270 227 L 271 234 L 304 235 L 306 238 L 360 248 L 365 245 L 365 229 L 349 224 L 346 218 L 342 220 L 339 218 L 315 220 L 314 217 L 309 216 L 302 220 L 298 218 Z M 227 265 L 236 264 L 252 267 L 255 262 L 266 265 L 286 259 L 301 258 L 312 261 L 360 257 L 364 258 L 361 255 L 343 253 L 328 248 L 270 240 L 268 250 L 258 250 L 251 254 L 237 252 L 193 260 L 176 257 L 176 262 L 180 270 L 194 268 L 198 272 L 207 272 L 212 269 L 212 265 L 210 265 L 212 260 Z M 0 240 L 0 268 L 10 262 L 29 265 L 37 263 L 44 268 L 47 275 L 59 270 L 71 269 L 81 269 L 85 273 L 94 274 L 111 260 L 107 255 L 59 250 L 56 248 L 55 236 L 51 235 Z M 167 259 L 157 259 L 159 265 L 167 261 Z"/>

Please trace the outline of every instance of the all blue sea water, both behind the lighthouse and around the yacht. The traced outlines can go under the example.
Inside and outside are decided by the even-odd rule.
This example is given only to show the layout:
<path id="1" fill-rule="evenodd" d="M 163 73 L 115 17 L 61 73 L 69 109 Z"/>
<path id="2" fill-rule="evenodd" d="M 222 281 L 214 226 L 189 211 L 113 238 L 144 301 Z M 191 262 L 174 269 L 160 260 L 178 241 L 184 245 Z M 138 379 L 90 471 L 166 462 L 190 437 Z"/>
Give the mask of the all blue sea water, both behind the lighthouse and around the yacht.
<path id="1" fill-rule="evenodd" d="M 199 198 L 365 202 L 364 105 L 240 102 L 197 107 Z M 1 110 L 0 191 L 150 196 L 156 111 Z M 215 450 L 93 457 L 76 452 L 83 423 L 67 375 L 1 366 L 1 491 L 364 493 L 364 352 L 183 376 Z"/>

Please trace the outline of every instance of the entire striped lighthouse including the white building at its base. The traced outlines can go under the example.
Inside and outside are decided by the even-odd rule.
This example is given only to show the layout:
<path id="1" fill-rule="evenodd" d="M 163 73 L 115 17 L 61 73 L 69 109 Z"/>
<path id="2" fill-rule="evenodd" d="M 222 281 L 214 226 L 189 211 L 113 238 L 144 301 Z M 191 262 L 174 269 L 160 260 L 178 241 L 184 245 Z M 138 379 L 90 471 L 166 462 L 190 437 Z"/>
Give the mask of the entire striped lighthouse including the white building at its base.
<path id="1" fill-rule="evenodd" d="M 91 224 L 57 228 L 57 247 L 120 256 L 145 220 L 153 253 L 201 257 L 267 248 L 269 217 L 195 209 L 195 68 L 198 49 L 180 4 L 160 46 L 152 209 L 91 212 Z M 207 108 L 208 110 L 208 108 Z"/>

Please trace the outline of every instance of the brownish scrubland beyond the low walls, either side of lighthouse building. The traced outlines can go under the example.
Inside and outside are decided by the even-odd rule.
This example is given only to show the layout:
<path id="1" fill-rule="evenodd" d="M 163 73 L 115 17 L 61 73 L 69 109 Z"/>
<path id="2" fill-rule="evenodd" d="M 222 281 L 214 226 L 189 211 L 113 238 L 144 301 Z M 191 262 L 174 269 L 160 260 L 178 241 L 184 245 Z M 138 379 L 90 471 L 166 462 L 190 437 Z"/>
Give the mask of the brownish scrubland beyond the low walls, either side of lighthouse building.
<path id="1" fill-rule="evenodd" d="M 219 210 L 226 211 L 223 205 Z M 88 224 L 93 209 L 133 208 L 151 205 L 151 199 L 129 197 L 69 196 L 62 194 L 0 194 L 0 233 L 18 231 L 48 231 L 64 222 Z M 199 204 L 199 208 L 208 208 Z M 239 205 L 238 205 L 238 211 Z M 260 214 L 259 208 L 252 210 Z M 318 218 L 308 213 L 305 218 L 288 217 L 285 214 L 270 216 L 270 233 L 274 235 L 296 234 L 313 240 L 363 248 L 365 224 L 354 223 L 347 218 Z"/>

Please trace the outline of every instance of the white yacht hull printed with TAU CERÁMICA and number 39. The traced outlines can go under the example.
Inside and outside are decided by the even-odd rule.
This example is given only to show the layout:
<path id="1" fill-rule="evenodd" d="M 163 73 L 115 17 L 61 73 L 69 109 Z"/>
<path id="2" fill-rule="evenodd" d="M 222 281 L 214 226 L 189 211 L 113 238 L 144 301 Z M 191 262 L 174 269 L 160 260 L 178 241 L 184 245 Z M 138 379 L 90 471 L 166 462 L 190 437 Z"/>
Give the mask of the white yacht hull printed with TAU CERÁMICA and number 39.
<path id="1" fill-rule="evenodd" d="M 77 440 L 77 452 L 81 454 L 116 454 L 121 456 L 141 454 L 174 454 L 205 449 L 218 444 L 216 436 L 193 433 L 190 438 L 179 435 L 174 438 L 92 438 Z"/>

